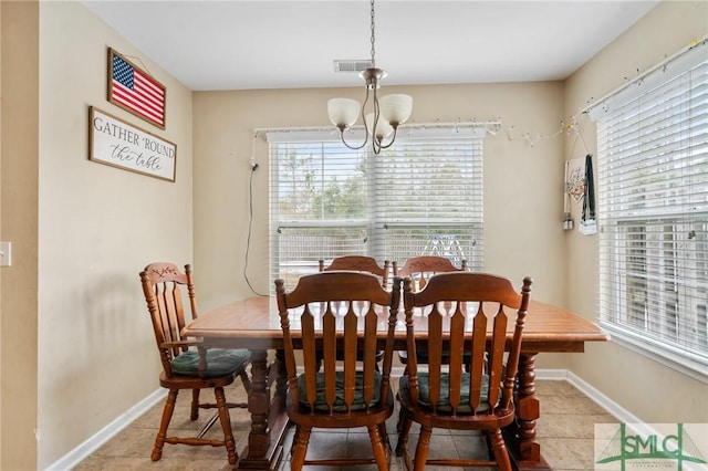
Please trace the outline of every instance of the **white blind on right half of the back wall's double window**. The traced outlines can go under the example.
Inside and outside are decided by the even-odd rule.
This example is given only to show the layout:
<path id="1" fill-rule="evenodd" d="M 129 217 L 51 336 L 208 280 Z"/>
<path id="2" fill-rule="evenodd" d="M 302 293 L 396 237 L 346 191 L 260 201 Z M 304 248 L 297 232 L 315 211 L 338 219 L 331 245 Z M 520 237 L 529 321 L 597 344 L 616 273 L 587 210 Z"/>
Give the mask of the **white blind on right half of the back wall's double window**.
<path id="1" fill-rule="evenodd" d="M 374 158 L 374 234 L 391 260 L 447 257 L 482 269 L 481 139 L 403 140 Z"/>

